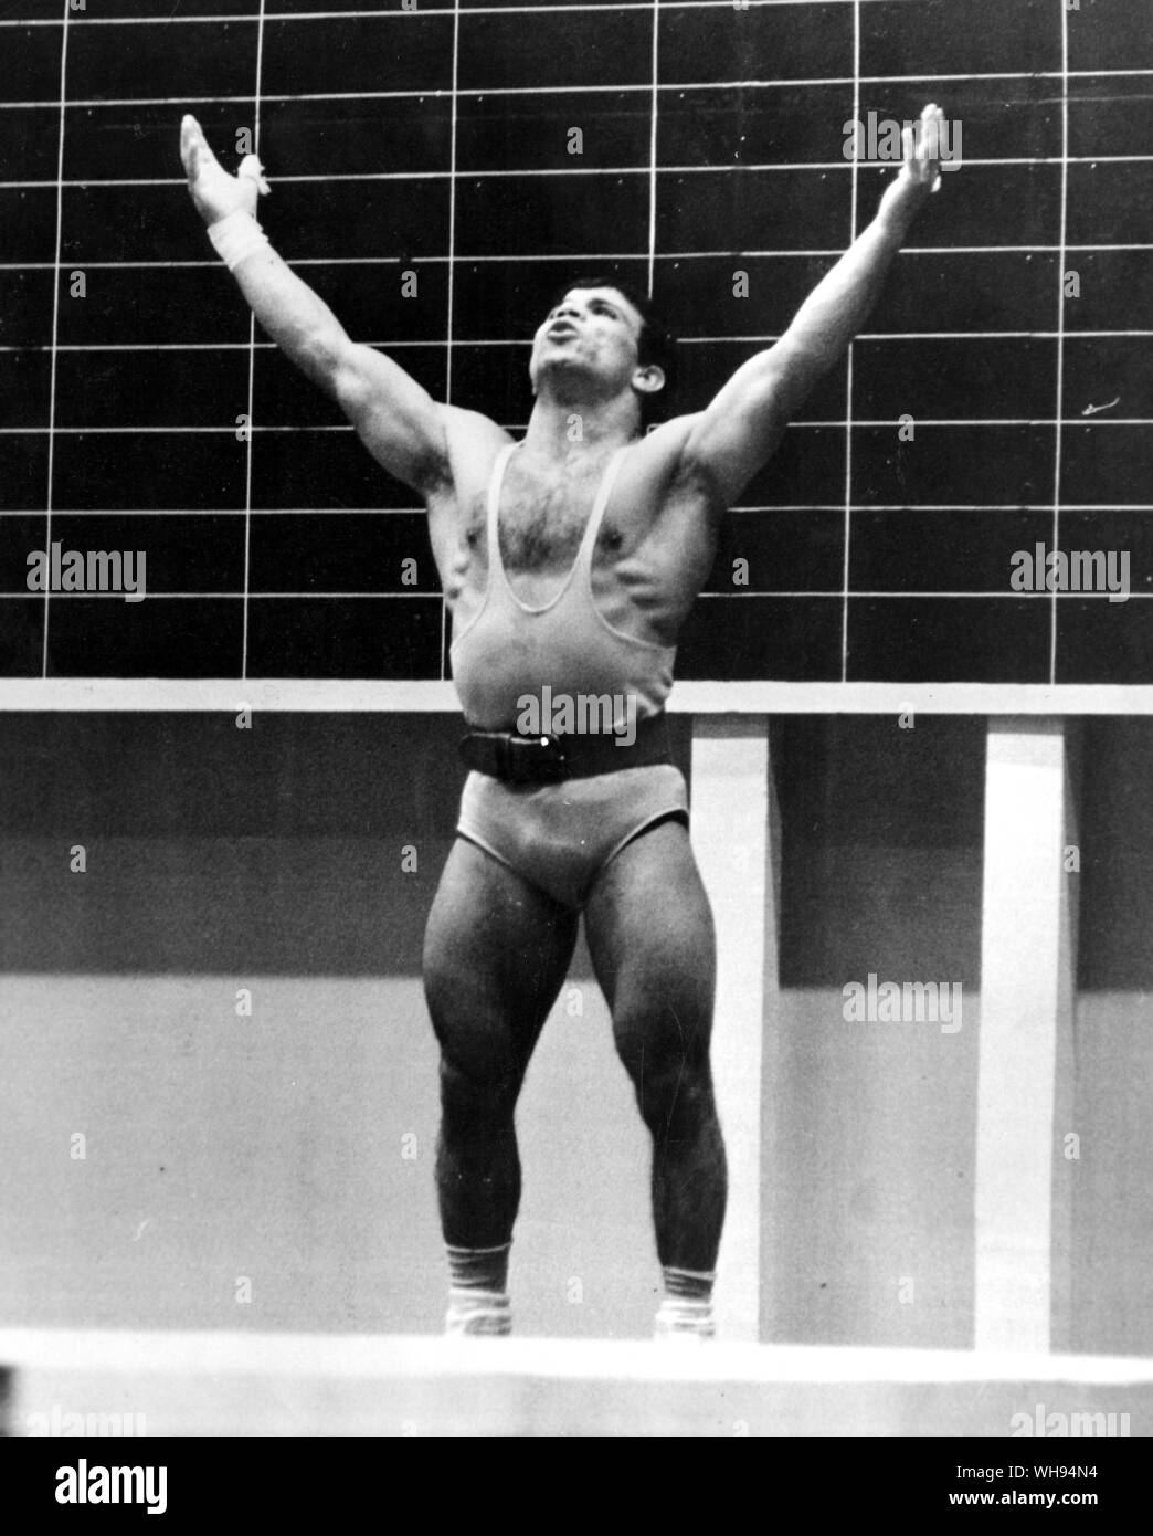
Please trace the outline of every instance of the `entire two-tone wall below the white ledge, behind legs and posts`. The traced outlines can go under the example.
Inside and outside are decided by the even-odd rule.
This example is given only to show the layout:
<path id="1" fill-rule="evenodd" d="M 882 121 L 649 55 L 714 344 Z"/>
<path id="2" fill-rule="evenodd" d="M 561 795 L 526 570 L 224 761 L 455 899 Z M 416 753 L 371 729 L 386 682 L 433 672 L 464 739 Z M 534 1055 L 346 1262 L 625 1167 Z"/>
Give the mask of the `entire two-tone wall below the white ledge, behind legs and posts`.
<path id="1" fill-rule="evenodd" d="M 0 1318 L 436 1332 L 436 1051 L 419 962 L 453 833 L 456 727 L 3 727 Z M 972 1342 L 983 743 L 978 719 L 774 722 L 768 1339 Z M 1076 1021 L 1059 1063 L 1072 1123 L 1055 1147 L 1072 1233 L 1055 1264 L 1070 1284 L 1055 1326 L 1069 1349 L 1150 1353 L 1153 733 L 1085 722 L 1082 757 Z M 69 869 L 75 845 L 84 874 Z M 961 982 L 963 1028 L 847 1025 L 844 983 L 871 971 Z M 648 1146 L 583 948 L 517 1123 L 517 1329 L 645 1336 L 660 1281 Z M 1069 1130 L 1076 1163 L 1059 1154 Z"/>

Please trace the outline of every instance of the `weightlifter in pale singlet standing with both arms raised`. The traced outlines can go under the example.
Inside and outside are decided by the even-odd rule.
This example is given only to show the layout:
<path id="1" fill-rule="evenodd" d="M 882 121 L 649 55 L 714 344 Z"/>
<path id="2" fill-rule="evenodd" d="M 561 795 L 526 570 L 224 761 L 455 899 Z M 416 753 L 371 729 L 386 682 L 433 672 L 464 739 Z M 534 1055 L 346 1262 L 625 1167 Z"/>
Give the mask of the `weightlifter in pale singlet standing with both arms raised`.
<path id="1" fill-rule="evenodd" d="M 726 1190 L 709 1072 L 714 932 L 663 705 L 722 513 L 860 330 L 937 181 L 940 124 L 929 106 L 920 131 L 906 131 L 904 163 L 877 217 L 780 341 L 737 369 L 705 410 L 645 436 L 671 373 L 671 339 L 640 295 L 579 280 L 536 332 L 536 399 L 524 441 L 513 442 L 352 341 L 256 224 L 258 192 L 267 190 L 258 160 L 246 157 L 229 175 L 195 118 L 184 118 L 181 157 L 213 246 L 261 327 L 424 501 L 453 616 L 471 773 L 424 951 L 441 1046 L 436 1184 L 450 1333 L 511 1326 L 507 1270 L 520 1198 L 513 1115 L 582 912 L 652 1135 L 665 1281 L 656 1333 L 714 1332 Z M 599 731 L 588 730 L 597 717 L 588 708 L 585 730 L 573 730 L 582 699 L 616 700 Z M 527 700 L 560 702 L 562 727 L 519 731 Z"/>

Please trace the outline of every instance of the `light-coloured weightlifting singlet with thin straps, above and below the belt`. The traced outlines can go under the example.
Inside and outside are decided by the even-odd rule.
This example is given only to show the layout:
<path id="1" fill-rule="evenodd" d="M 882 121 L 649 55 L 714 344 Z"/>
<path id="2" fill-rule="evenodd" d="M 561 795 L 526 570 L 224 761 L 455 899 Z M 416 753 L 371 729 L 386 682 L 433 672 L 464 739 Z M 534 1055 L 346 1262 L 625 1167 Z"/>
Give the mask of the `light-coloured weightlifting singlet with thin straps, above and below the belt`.
<path id="1" fill-rule="evenodd" d="M 520 602 L 501 559 L 501 487 L 517 444 L 497 455 L 488 482 L 488 579 L 471 613 L 453 613 L 453 677 L 476 730 L 514 730 L 519 699 L 633 694 L 636 717 L 657 714 L 672 687 L 676 647 L 620 628 L 631 601 L 620 591 L 611 617 L 593 598 L 593 554 L 628 449 L 610 461 L 576 561 L 540 607 Z M 462 594 L 462 599 L 465 594 Z M 616 621 L 616 622 L 614 622 Z M 685 779 L 672 763 L 622 768 L 562 783 L 505 783 L 470 773 L 458 831 L 567 906 L 582 906 L 596 876 L 654 822 L 688 820 Z"/>

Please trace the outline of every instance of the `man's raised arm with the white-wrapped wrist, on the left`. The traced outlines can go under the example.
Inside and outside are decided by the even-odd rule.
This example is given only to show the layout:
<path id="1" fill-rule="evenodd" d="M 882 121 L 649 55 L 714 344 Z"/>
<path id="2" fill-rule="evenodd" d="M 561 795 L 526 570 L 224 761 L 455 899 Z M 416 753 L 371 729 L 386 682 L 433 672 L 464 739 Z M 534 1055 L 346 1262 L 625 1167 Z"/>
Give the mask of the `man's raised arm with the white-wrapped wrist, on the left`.
<path id="1" fill-rule="evenodd" d="M 240 174 L 229 175 L 193 117 L 181 123 L 180 155 L 192 201 L 209 229 L 223 232 L 218 249 L 263 329 L 336 401 L 390 475 L 422 495 L 436 490 L 448 478 L 442 407 L 391 358 L 352 341 L 324 300 L 267 244 L 255 224 L 258 194 L 267 192 L 256 157 L 247 155 Z"/>

